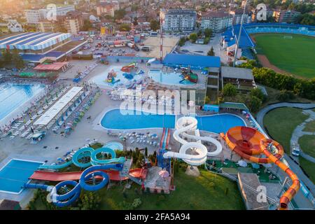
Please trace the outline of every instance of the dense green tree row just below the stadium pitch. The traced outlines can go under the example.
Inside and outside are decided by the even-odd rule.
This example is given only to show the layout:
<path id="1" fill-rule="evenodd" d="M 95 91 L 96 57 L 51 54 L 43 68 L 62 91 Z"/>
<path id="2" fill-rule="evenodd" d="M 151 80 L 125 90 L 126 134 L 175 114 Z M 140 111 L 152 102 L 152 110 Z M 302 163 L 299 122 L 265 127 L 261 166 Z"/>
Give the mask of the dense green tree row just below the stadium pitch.
<path id="1" fill-rule="evenodd" d="M 293 91 L 297 96 L 315 100 L 315 78 L 301 79 L 276 73 L 272 69 L 253 68 L 255 81 L 276 90 Z"/>

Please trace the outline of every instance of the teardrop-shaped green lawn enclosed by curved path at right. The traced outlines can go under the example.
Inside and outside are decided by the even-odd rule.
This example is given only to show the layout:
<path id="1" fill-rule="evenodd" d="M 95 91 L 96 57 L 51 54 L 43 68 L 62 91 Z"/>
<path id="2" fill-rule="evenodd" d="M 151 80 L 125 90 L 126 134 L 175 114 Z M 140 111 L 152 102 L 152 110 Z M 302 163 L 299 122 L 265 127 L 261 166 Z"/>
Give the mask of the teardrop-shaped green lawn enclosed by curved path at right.
<path id="1" fill-rule="evenodd" d="M 302 114 L 302 110 L 283 107 L 267 113 L 264 118 L 264 126 L 272 139 L 278 141 L 286 153 L 290 153 L 290 138 L 293 130 L 306 119 L 307 116 Z"/>

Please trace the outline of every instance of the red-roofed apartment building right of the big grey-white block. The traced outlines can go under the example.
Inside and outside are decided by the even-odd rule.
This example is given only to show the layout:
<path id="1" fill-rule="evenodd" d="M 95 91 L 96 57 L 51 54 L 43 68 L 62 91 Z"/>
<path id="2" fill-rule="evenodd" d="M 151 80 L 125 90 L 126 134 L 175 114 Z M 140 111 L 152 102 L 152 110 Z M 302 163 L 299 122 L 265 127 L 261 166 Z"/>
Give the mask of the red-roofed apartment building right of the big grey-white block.
<path id="1" fill-rule="evenodd" d="M 202 14 L 201 29 L 212 29 L 220 32 L 232 26 L 232 15 L 225 11 L 207 12 Z"/>

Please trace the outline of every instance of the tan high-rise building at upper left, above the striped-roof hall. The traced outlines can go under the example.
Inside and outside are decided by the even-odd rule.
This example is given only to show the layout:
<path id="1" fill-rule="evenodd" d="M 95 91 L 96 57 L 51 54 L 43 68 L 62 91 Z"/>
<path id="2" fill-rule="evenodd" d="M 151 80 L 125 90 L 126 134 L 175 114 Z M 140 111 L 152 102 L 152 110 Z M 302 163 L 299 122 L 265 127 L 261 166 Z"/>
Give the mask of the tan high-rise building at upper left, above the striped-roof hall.
<path id="1" fill-rule="evenodd" d="M 70 34 L 78 34 L 83 27 L 83 19 L 81 13 L 78 11 L 71 11 L 66 13 L 64 18 L 64 27 Z"/>

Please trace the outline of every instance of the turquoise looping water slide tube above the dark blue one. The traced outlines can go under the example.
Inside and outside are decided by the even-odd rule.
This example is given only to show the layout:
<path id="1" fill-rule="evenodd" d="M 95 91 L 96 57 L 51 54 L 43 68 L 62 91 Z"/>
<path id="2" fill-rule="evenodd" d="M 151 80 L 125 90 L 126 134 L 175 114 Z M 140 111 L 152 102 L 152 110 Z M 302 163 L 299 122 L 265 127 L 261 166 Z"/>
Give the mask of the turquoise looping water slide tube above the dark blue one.
<path id="1" fill-rule="evenodd" d="M 102 160 L 97 158 L 97 155 L 101 153 L 104 155 L 105 153 L 111 154 L 110 160 Z M 90 158 L 90 162 L 80 162 L 83 158 Z M 65 167 L 69 167 L 70 165 L 76 165 L 80 168 L 86 168 L 90 167 L 91 165 L 102 165 L 102 164 L 109 164 L 113 162 L 123 163 L 125 162 L 125 158 L 120 157 L 116 158 L 116 153 L 111 148 L 98 148 L 97 150 L 94 150 L 93 148 L 86 147 L 86 148 L 80 148 L 74 155 L 72 156 L 72 160 L 69 162 L 65 162 L 62 165 L 41 165 L 38 167 L 38 169 L 62 169 Z"/>

